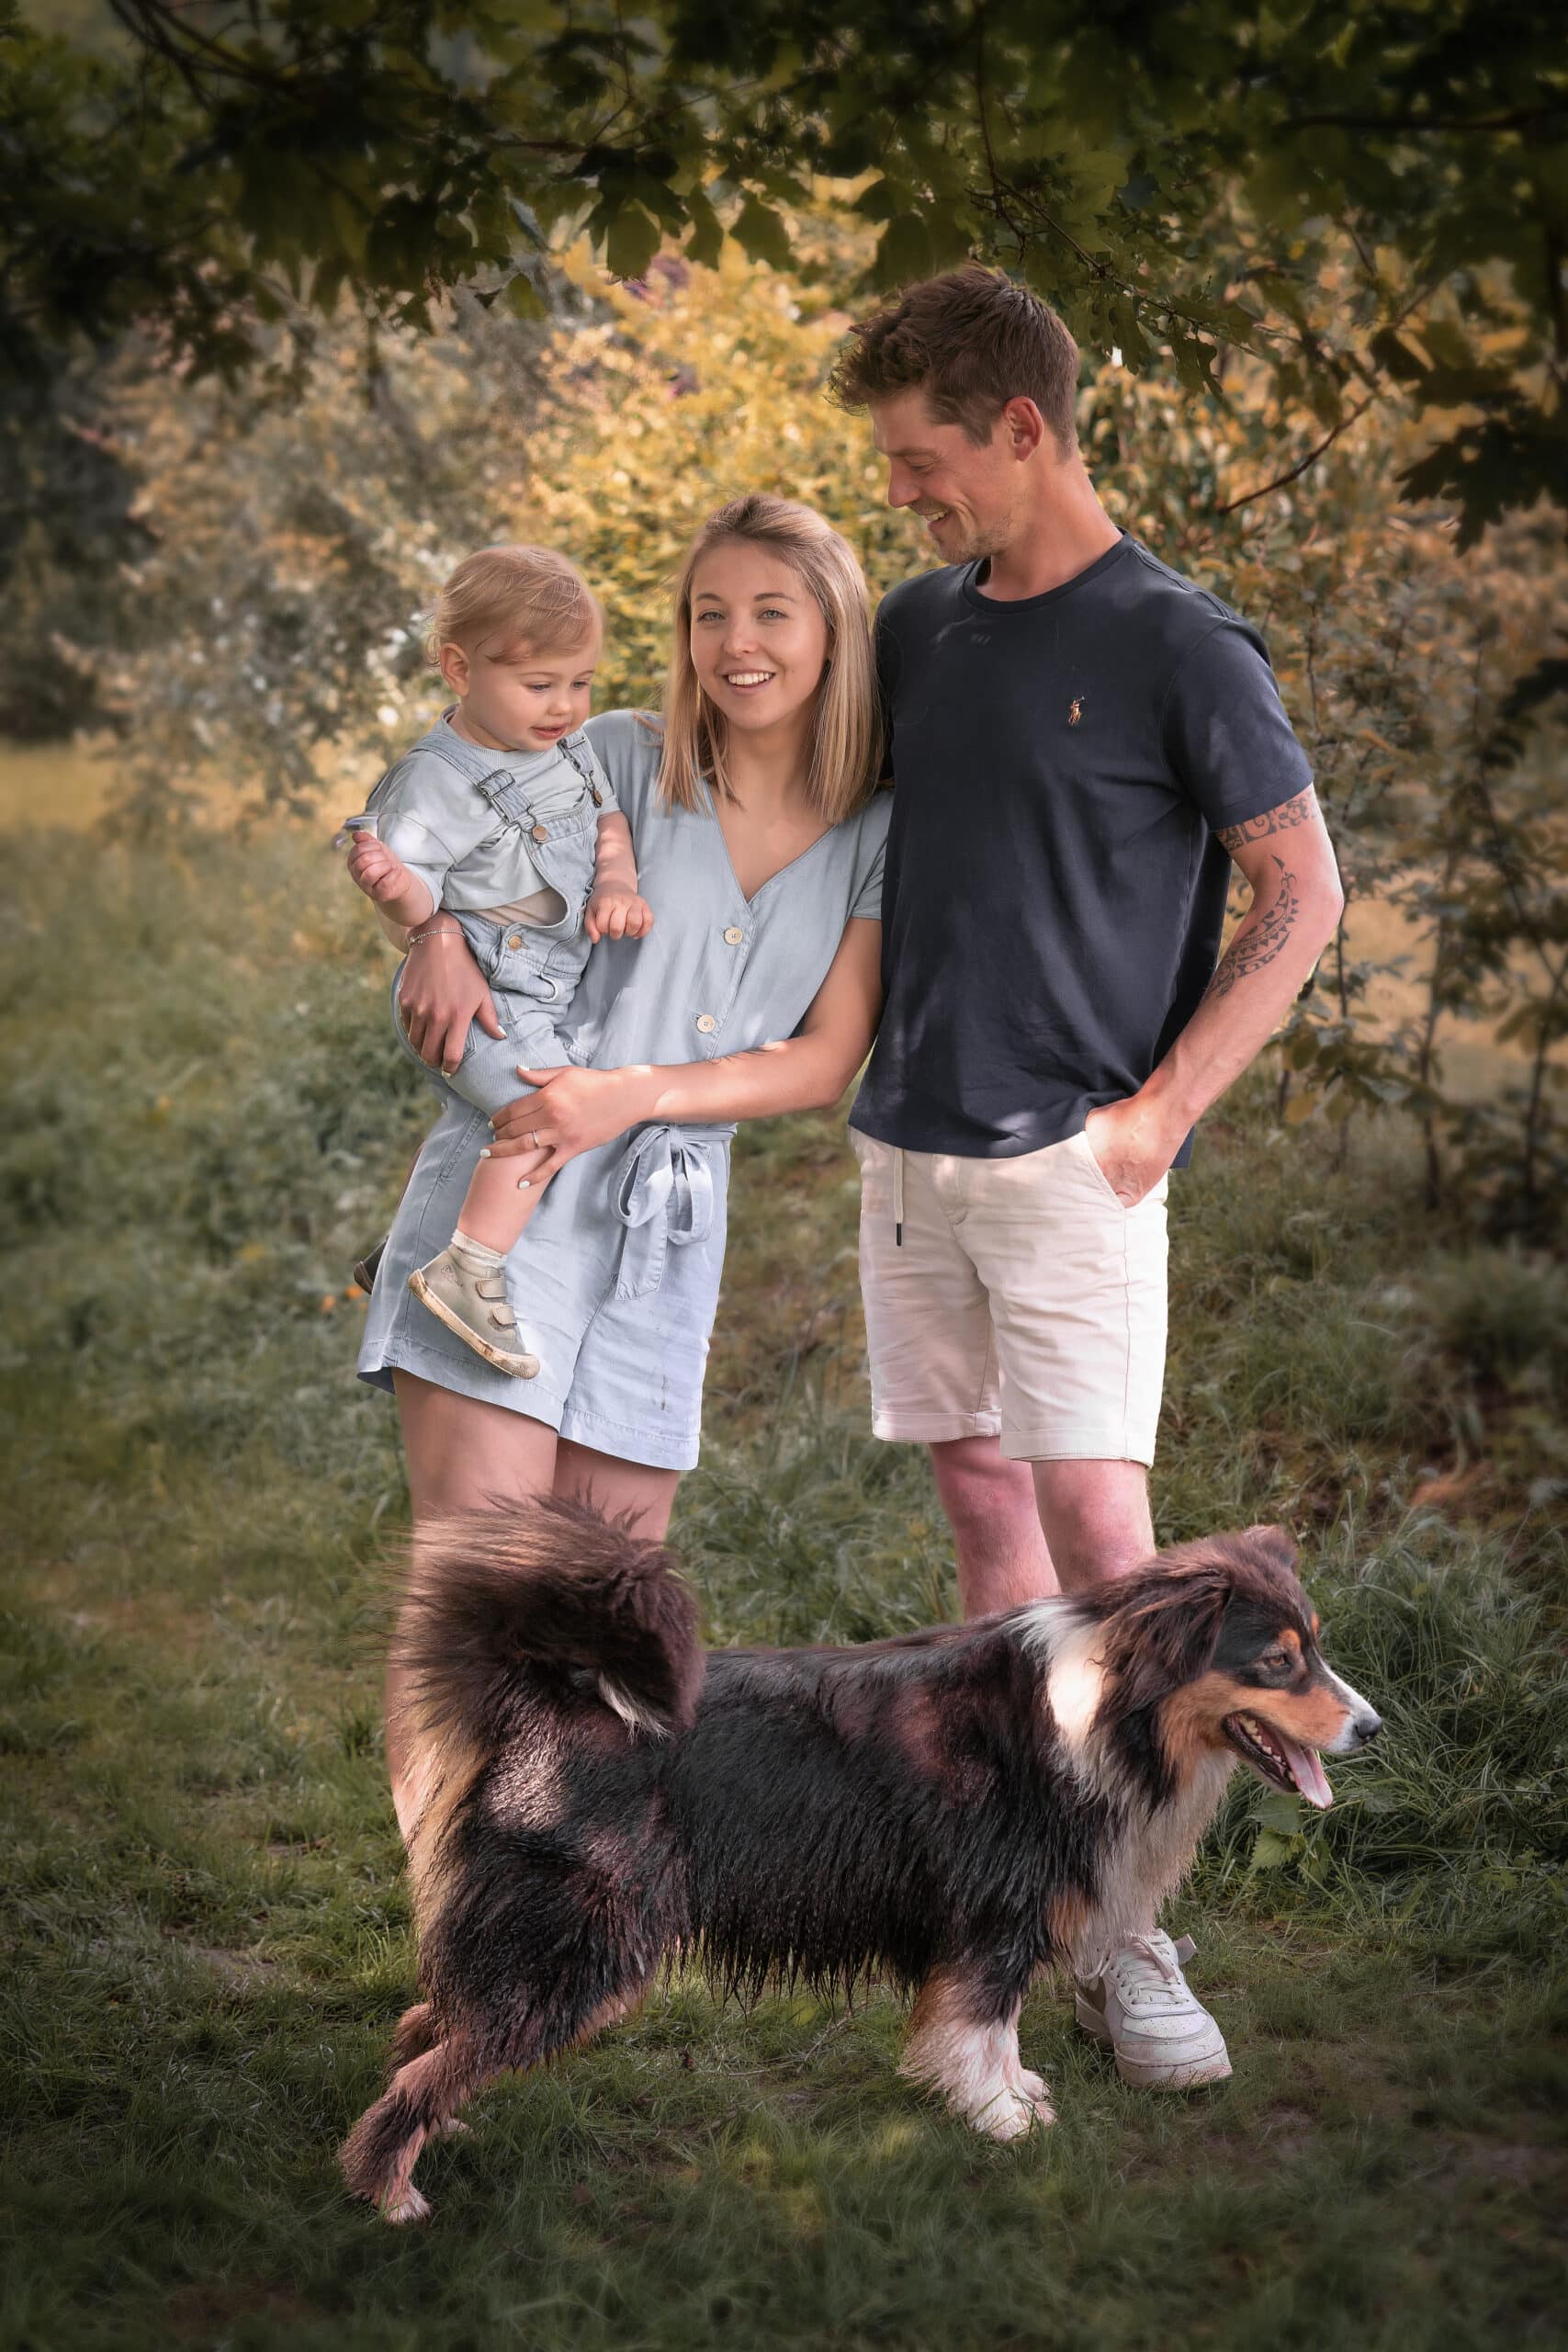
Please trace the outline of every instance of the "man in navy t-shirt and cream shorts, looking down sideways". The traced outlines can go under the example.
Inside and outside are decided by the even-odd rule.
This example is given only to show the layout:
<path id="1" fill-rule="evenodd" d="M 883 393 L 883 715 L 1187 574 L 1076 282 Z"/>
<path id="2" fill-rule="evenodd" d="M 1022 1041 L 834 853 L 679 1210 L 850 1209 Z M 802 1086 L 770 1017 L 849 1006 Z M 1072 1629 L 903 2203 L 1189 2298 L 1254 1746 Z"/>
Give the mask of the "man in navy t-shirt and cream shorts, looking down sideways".
<path id="1" fill-rule="evenodd" d="M 971 263 L 832 376 L 943 560 L 877 614 L 886 1009 L 851 1129 L 872 1421 L 931 1449 L 966 1616 L 1154 1550 L 1166 1174 L 1342 910 L 1265 644 L 1110 520 L 1077 372 L 1063 322 Z M 1253 901 L 1215 969 L 1232 861 Z M 1147 1929 L 1079 2020 L 1128 2082 L 1229 2074 L 1190 1955 Z"/>

